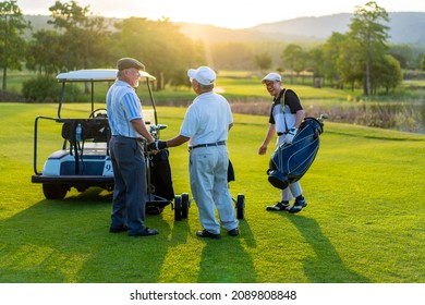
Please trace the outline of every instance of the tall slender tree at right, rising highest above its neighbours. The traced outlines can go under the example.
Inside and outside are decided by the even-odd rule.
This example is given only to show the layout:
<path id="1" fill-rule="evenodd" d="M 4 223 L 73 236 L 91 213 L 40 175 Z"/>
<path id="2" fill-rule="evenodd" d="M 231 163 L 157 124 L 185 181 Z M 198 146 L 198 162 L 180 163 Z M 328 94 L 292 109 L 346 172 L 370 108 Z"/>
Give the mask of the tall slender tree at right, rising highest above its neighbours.
<path id="1" fill-rule="evenodd" d="M 389 22 L 388 13 L 378 7 L 376 2 L 367 2 L 364 7 L 356 7 L 354 17 L 350 24 L 349 36 L 361 52 L 361 61 L 364 65 L 364 94 L 371 95 L 373 82 L 372 63 L 381 60 L 387 51 L 386 40 L 389 35 L 388 26 L 381 22 Z"/>

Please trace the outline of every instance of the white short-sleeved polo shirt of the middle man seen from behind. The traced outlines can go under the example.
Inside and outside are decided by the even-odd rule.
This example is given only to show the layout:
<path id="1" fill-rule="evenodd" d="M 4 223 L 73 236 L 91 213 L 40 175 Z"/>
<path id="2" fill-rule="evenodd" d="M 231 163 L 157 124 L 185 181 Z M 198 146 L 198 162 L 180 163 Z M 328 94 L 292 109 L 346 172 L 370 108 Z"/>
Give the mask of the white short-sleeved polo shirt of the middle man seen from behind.
<path id="1" fill-rule="evenodd" d="M 233 123 L 227 99 L 214 91 L 198 95 L 187 108 L 180 135 L 190 137 L 189 146 L 227 141 Z"/>

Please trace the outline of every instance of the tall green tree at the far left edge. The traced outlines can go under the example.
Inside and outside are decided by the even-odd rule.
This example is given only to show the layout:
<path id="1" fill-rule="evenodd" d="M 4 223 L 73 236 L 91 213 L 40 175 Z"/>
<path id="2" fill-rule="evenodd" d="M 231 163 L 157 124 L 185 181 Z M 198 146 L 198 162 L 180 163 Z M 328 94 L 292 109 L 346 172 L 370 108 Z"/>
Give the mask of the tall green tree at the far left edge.
<path id="1" fill-rule="evenodd" d="M 8 69 L 21 70 L 25 57 L 24 30 L 31 28 L 15 0 L 0 2 L 0 66 L 3 70 L 2 89 L 7 88 Z"/>

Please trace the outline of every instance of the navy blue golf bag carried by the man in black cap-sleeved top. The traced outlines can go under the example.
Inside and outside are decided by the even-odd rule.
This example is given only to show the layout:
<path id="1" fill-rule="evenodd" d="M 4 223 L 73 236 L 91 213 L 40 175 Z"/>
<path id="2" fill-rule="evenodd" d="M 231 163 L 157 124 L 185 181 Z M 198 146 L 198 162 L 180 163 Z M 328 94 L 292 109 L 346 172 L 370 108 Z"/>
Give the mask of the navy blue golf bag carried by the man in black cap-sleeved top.
<path id="1" fill-rule="evenodd" d="M 317 119 L 305 118 L 292 144 L 284 143 L 275 150 L 267 170 L 271 185 L 283 190 L 304 175 L 316 158 L 323 127 Z"/>

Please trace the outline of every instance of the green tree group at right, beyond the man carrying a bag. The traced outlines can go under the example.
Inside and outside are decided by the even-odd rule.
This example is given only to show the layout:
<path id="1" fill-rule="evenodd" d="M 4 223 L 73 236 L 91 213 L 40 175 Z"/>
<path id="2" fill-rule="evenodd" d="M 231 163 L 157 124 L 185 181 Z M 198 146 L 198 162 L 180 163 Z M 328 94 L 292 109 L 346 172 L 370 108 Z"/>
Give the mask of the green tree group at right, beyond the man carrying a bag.
<path id="1" fill-rule="evenodd" d="M 280 70 L 295 74 L 311 71 L 316 80 L 325 80 L 333 87 L 361 86 L 365 96 L 379 88 L 388 93 L 403 80 L 402 62 L 389 52 L 388 22 L 388 13 L 376 2 L 356 7 L 348 33 L 333 33 L 325 44 L 309 50 L 288 45 L 281 53 Z M 262 70 L 269 69 L 272 61 L 267 52 L 255 60 Z"/>

